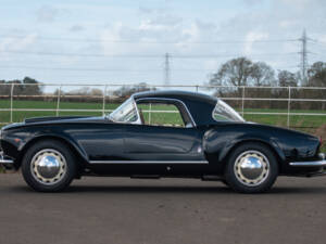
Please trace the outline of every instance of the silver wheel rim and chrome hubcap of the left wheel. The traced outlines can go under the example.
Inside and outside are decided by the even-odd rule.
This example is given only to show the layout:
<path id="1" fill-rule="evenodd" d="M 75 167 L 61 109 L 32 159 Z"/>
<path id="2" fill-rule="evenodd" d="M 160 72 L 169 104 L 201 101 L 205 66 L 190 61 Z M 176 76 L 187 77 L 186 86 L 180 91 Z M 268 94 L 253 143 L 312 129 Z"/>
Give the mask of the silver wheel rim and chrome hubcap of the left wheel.
<path id="1" fill-rule="evenodd" d="M 54 184 L 66 174 L 66 160 L 61 153 L 53 149 L 41 150 L 32 159 L 33 177 L 42 184 Z"/>

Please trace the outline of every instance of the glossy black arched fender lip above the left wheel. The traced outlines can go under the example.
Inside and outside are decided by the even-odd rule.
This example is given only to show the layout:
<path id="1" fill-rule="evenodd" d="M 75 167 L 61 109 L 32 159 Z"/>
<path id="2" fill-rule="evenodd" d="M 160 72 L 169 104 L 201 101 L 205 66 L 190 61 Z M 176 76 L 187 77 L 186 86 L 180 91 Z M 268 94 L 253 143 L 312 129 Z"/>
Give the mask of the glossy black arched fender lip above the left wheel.
<path id="1" fill-rule="evenodd" d="M 20 146 L 18 156 L 17 156 L 17 159 L 16 159 L 16 162 L 17 162 L 16 166 L 21 167 L 23 156 L 25 155 L 26 151 L 32 145 L 34 145 L 35 143 L 37 143 L 39 141 L 43 141 L 43 140 L 59 141 L 59 142 L 67 145 L 70 147 L 70 150 L 72 151 L 72 153 L 76 156 L 76 158 L 78 160 L 82 160 L 83 163 L 88 162 L 87 154 L 85 153 L 85 151 L 78 144 L 76 144 L 73 140 L 64 138 L 64 137 L 60 137 L 60 136 L 57 136 L 57 134 L 41 134 L 41 136 L 38 136 L 38 137 L 35 137 L 35 138 L 30 139 L 25 144 Z"/>

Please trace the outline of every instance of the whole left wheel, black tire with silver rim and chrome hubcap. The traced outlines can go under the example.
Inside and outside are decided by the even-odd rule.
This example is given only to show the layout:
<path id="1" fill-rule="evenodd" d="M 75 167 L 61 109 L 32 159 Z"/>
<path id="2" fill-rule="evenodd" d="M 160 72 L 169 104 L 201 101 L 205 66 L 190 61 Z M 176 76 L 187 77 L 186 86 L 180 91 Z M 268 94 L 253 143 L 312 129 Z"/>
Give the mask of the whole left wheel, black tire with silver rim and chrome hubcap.
<path id="1" fill-rule="evenodd" d="M 22 172 L 26 183 L 36 191 L 62 191 L 75 178 L 75 158 L 65 144 L 40 141 L 25 153 Z"/>

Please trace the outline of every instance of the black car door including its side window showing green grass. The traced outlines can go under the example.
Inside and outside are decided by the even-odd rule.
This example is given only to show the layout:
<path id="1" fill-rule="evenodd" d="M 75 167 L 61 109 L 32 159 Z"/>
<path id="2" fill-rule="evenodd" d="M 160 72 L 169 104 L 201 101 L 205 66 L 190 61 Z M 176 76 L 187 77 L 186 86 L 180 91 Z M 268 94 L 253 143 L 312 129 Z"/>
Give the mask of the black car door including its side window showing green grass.
<path id="1" fill-rule="evenodd" d="M 183 104 L 177 103 L 162 99 L 137 102 L 142 125 L 126 127 L 124 149 L 129 159 L 156 163 L 204 160 L 202 132 L 187 120 L 179 110 Z M 149 111 L 149 107 L 153 108 Z"/>

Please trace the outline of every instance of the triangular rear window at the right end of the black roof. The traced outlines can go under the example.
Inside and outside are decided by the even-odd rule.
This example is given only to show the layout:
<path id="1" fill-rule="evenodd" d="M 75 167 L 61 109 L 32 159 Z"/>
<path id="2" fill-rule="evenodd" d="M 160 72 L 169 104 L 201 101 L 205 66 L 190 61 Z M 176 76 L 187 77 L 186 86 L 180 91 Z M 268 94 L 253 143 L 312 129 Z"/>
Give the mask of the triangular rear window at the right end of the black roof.
<path id="1" fill-rule="evenodd" d="M 244 119 L 229 105 L 222 100 L 217 100 L 213 111 L 213 118 L 216 121 L 244 121 Z"/>

